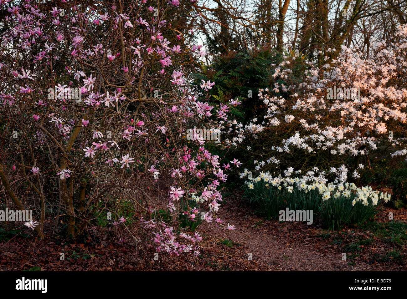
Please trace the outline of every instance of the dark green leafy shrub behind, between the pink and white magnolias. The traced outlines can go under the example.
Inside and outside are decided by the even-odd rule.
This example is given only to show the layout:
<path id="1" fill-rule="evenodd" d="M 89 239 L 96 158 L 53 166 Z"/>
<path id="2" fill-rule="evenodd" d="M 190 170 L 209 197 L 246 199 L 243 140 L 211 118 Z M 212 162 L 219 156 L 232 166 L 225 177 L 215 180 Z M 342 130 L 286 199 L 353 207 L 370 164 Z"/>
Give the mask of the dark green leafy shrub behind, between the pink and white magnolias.
<path id="1" fill-rule="evenodd" d="M 282 80 L 274 77 L 280 62 L 280 55 L 265 49 L 220 55 L 209 67 L 203 68 L 202 74 L 195 74 L 196 85 L 201 84 L 201 79 L 216 83 L 208 91 L 213 100 L 211 105 L 219 106 L 219 103 L 227 103 L 230 99 L 241 100 L 242 104 L 232 107 L 230 114 L 245 123 L 265 111 L 263 101 L 258 97 L 260 88 L 272 89 L 275 82 L 291 85 L 292 81 L 302 79 L 305 64 L 300 59 L 293 60 L 291 78 Z"/>

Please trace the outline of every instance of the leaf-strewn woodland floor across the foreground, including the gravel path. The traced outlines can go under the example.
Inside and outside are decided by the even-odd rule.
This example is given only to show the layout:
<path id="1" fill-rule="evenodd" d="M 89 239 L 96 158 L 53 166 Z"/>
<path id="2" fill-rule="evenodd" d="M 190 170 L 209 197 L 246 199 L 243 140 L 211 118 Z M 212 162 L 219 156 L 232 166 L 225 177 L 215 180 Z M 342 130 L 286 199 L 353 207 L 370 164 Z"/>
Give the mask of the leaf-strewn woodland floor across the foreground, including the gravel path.
<path id="1" fill-rule="evenodd" d="M 386 207 L 375 221 L 385 223 L 388 213 L 394 220 L 407 223 L 407 210 Z M 147 256 L 136 254 L 135 244 L 118 244 L 94 227 L 98 242 L 59 242 L 46 239 L 15 236 L 0 243 L 0 270 L 42 271 L 133 271 L 133 270 L 260 270 L 260 271 L 405 271 L 407 249 L 405 244 L 394 244 L 376 238 L 365 229 L 344 229 L 340 233 L 329 232 L 306 223 L 264 220 L 241 200 L 239 194 L 227 199 L 219 216 L 225 223 L 233 224 L 235 231 L 222 230 L 214 223 L 204 223 L 197 231 L 204 237 L 201 256 L 170 257 L 160 255 L 153 260 L 153 252 Z M 315 222 L 315 220 L 314 220 Z M 131 229 L 131 227 L 130 227 Z M 404 232 L 405 233 L 405 232 Z M 372 235 L 372 236 L 370 236 Z M 105 236 L 105 237 L 103 237 Z M 130 236 L 129 236 L 130 237 Z M 131 237 L 129 238 L 131 240 Z M 344 247 L 368 239 L 365 245 L 355 247 L 342 260 Z M 359 244 L 363 244 L 359 242 Z M 352 247 L 348 247 L 352 248 Z M 398 258 L 381 258 L 387 251 L 396 249 Z M 65 260 L 59 259 L 65 253 Z M 140 251 L 139 251 L 140 252 Z M 248 260 L 249 253 L 252 260 Z"/>

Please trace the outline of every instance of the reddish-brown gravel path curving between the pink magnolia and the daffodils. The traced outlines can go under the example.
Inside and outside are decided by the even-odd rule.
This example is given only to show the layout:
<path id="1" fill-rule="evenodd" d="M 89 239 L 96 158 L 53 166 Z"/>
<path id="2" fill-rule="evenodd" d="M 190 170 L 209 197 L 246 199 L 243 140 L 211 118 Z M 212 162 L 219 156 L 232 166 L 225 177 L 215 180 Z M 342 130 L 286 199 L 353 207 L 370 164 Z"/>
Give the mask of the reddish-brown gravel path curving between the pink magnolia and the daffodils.
<path id="1" fill-rule="evenodd" d="M 249 253 L 252 261 L 261 268 L 282 271 L 348 271 L 354 267 L 348 266 L 341 259 L 341 253 L 319 250 L 321 245 L 313 242 L 307 232 L 309 228 L 300 223 L 278 223 L 277 221 L 264 221 L 262 218 L 248 217 L 239 213 L 239 207 L 228 202 L 219 216 L 225 223 L 233 224 L 235 231 L 227 231 L 214 227 L 213 223 L 206 224 L 201 229 L 211 238 L 212 243 L 228 242 L 226 250 L 236 248 L 236 258 L 248 259 Z M 246 211 L 247 213 L 247 211 Z M 304 228 L 305 226 L 305 228 Z"/>

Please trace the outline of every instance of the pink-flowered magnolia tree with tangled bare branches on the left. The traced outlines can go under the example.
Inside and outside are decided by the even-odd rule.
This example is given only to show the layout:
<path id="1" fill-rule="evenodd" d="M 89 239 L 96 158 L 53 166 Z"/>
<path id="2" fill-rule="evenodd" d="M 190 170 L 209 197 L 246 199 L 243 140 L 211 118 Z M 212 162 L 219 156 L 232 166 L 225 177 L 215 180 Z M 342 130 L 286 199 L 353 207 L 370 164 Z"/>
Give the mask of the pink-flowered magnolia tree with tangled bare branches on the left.
<path id="1" fill-rule="evenodd" d="M 172 28 L 179 2 L 59 3 L 1 2 L 9 12 L 0 52 L 0 177 L 8 199 L 37 211 L 41 238 L 58 221 L 68 235 L 80 234 L 95 215 L 130 202 L 152 246 L 199 254 L 201 237 L 179 229 L 179 215 L 216 218 L 230 166 L 206 149 L 210 141 L 187 140 L 186 131 L 226 120 L 228 106 L 213 111 L 190 86 L 205 52 Z M 172 223 L 157 213 L 160 197 Z"/>

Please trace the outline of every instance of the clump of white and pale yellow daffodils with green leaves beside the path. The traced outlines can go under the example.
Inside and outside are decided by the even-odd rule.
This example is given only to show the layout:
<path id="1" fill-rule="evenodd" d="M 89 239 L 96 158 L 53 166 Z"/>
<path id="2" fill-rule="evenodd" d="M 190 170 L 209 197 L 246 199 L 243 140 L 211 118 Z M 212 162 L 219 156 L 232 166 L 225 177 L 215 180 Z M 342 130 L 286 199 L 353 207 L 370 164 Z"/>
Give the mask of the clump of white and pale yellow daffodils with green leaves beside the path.
<path id="1" fill-rule="evenodd" d="M 373 218 L 380 201 L 387 203 L 390 194 L 358 188 L 354 183 L 328 183 L 323 177 L 274 177 L 260 172 L 253 177 L 245 169 L 246 196 L 268 218 L 277 218 L 285 207 L 294 210 L 312 210 L 330 229 L 359 225 Z"/>

